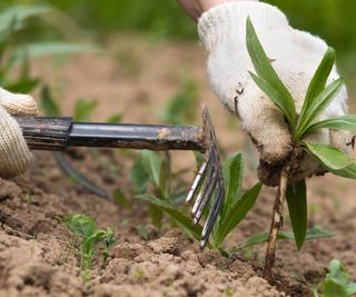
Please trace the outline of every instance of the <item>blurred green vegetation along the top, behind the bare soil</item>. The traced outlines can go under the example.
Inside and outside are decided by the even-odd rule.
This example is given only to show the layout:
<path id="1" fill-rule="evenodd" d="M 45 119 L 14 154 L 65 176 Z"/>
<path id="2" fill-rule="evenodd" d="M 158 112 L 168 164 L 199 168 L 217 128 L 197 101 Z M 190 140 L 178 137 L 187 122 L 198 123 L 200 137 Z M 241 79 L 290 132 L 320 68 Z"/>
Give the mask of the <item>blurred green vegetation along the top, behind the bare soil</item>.
<path id="1" fill-rule="evenodd" d="M 295 28 L 324 38 L 337 50 L 338 65 L 348 80 L 356 73 L 356 1 L 353 0 L 268 0 L 279 7 Z M 52 4 L 98 38 L 110 33 L 139 31 L 156 39 L 197 39 L 195 23 L 176 0 L 2 0 L 10 4 Z M 43 24 L 41 29 L 46 32 Z M 66 24 L 63 24 L 66 27 Z M 40 30 L 38 30 L 40 31 Z"/>

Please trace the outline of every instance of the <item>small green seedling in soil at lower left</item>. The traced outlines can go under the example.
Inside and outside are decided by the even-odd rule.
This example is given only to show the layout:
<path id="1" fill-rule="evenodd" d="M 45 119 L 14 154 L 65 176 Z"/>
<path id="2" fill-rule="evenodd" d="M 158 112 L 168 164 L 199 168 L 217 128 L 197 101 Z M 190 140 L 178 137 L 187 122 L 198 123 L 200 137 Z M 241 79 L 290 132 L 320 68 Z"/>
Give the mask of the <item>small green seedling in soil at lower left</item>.
<path id="1" fill-rule="evenodd" d="M 101 247 L 101 266 L 103 266 L 108 259 L 110 249 L 117 241 L 113 230 L 110 227 L 106 231 L 99 230 L 95 220 L 86 215 L 63 216 L 61 221 L 81 239 L 78 249 L 81 277 L 85 280 L 89 280 L 98 247 Z"/>

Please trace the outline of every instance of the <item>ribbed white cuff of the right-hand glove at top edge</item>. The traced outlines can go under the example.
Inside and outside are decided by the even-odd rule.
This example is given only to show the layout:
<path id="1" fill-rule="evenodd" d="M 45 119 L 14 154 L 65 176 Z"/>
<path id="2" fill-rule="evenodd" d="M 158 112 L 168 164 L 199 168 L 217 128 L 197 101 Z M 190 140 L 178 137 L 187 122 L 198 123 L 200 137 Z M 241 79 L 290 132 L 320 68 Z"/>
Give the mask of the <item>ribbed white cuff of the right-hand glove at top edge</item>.
<path id="1" fill-rule="evenodd" d="M 199 37 L 207 51 L 238 36 L 245 38 L 247 17 L 250 17 L 256 29 L 288 26 L 286 16 L 267 3 L 238 1 L 219 4 L 201 14 L 198 21 Z"/>

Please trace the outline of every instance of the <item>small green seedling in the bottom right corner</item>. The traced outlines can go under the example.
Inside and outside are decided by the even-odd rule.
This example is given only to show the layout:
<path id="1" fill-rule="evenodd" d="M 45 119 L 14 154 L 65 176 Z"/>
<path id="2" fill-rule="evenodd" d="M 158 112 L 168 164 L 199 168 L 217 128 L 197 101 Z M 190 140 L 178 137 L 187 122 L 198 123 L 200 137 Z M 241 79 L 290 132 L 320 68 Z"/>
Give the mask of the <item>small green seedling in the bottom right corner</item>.
<path id="1" fill-rule="evenodd" d="M 356 294 L 356 284 L 352 284 L 350 277 L 338 259 L 333 259 L 329 264 L 329 273 L 325 279 L 313 289 L 315 297 L 350 297 Z M 322 291 L 319 295 L 318 291 Z"/>

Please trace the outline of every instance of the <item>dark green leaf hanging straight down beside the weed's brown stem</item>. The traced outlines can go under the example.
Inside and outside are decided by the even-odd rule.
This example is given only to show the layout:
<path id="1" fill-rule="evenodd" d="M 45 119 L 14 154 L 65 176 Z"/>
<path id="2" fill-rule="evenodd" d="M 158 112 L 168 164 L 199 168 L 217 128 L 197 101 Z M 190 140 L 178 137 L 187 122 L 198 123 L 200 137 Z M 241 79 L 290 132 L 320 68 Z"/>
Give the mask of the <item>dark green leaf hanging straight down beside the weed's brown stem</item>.
<path id="1" fill-rule="evenodd" d="M 307 234 L 307 188 L 305 179 L 296 185 L 288 185 L 286 192 L 293 232 L 300 250 Z"/>

